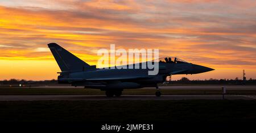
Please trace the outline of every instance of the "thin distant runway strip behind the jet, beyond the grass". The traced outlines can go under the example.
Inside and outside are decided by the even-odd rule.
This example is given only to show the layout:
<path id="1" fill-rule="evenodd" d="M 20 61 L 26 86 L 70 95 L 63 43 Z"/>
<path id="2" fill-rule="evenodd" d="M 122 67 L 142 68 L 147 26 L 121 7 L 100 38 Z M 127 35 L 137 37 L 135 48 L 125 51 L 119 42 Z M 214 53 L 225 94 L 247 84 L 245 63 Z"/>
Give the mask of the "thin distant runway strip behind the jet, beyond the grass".
<path id="1" fill-rule="evenodd" d="M 221 90 L 225 87 L 227 90 L 256 90 L 256 85 L 189 85 L 189 86 L 159 86 L 160 89 L 170 89 L 170 90 Z M 34 86 L 31 88 L 84 88 L 75 86 Z M 155 89 L 155 88 L 143 88 L 143 89 Z"/>

